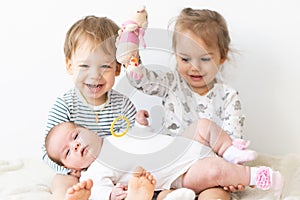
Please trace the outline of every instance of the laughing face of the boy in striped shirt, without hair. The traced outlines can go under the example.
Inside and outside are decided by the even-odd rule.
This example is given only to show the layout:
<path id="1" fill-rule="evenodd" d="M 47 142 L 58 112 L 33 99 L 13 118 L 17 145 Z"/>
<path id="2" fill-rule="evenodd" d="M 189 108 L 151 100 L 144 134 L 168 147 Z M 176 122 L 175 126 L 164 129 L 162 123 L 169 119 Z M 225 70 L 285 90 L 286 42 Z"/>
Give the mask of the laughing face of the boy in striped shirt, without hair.
<path id="1" fill-rule="evenodd" d="M 115 54 L 104 52 L 100 45 L 91 50 L 89 42 L 82 42 L 66 64 L 86 101 L 91 105 L 103 104 L 117 75 Z"/>

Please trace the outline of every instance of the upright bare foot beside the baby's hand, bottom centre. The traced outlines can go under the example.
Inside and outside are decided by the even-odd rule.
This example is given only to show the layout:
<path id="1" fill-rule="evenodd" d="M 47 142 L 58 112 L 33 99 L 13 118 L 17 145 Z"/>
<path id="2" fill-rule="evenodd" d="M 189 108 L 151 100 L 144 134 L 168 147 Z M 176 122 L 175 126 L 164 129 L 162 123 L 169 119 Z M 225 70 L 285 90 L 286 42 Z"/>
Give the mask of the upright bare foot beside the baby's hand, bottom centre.
<path id="1" fill-rule="evenodd" d="M 151 200 L 154 194 L 155 179 L 142 167 L 138 167 L 128 183 L 126 200 Z"/>

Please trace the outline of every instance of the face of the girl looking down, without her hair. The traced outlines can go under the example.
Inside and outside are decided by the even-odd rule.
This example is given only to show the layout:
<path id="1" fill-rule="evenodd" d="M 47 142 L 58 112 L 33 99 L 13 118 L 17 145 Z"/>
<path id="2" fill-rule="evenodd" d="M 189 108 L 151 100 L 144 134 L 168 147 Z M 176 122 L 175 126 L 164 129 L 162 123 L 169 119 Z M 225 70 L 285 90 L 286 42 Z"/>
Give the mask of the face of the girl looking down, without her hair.
<path id="1" fill-rule="evenodd" d="M 219 48 L 208 47 L 191 31 L 182 32 L 176 42 L 179 74 L 194 92 L 206 94 L 213 87 L 220 65 L 225 61 L 221 58 Z"/>

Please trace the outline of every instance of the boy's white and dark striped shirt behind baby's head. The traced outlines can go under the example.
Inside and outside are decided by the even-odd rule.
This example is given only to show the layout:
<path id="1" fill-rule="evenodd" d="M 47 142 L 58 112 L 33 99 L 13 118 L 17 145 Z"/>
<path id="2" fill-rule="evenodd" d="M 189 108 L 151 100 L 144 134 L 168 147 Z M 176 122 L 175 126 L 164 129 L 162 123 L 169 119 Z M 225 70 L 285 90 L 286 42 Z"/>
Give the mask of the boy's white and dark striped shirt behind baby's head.
<path id="1" fill-rule="evenodd" d="M 105 137 L 111 135 L 111 124 L 121 115 L 129 119 L 130 126 L 132 127 L 136 114 L 134 104 L 128 97 L 113 89 L 108 92 L 107 97 L 108 100 L 104 105 L 92 107 L 92 105 L 87 104 L 77 89 L 73 88 L 69 90 L 61 97 L 58 97 L 50 109 L 45 136 L 53 126 L 61 122 L 72 121 L 94 131 L 100 137 Z M 98 123 L 96 118 L 98 118 Z M 116 133 L 121 133 L 125 129 L 126 122 L 124 120 L 119 120 L 114 125 L 114 132 Z M 57 165 L 48 157 L 45 143 L 43 143 L 42 151 L 43 160 L 57 173 L 67 174 L 70 172 L 70 169 Z"/>

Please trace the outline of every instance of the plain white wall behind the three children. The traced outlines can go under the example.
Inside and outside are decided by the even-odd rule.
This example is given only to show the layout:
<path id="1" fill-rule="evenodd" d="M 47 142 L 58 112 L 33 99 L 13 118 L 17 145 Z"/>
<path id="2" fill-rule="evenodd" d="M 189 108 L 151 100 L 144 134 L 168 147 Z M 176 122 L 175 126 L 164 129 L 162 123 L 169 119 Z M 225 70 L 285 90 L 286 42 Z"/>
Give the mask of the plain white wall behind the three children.
<path id="1" fill-rule="evenodd" d="M 169 3 L 168 3 L 169 2 Z M 0 3 L 0 159 L 40 155 L 47 111 L 72 86 L 64 66 L 67 29 L 79 18 L 118 24 L 144 4 L 149 28 L 166 29 L 187 6 L 227 20 L 238 50 L 230 84 L 244 103 L 246 138 L 262 153 L 300 153 L 300 3 L 298 0 L 11 0 Z"/>

